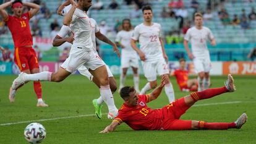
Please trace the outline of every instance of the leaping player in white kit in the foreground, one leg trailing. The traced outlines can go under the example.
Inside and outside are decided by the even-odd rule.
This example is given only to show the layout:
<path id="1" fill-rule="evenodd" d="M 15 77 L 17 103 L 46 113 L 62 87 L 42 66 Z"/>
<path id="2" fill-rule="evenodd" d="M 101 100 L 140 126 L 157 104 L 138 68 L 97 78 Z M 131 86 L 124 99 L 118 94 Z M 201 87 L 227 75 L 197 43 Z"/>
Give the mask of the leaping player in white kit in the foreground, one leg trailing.
<path id="1" fill-rule="evenodd" d="M 74 41 L 71 47 L 69 57 L 66 59 L 67 65 L 62 65 L 58 72 L 40 72 L 38 74 L 21 73 L 13 84 L 12 89 L 18 88 L 20 85 L 29 81 L 52 81 L 61 82 L 68 77 L 72 72 L 79 69 L 80 66 L 85 66 L 89 69 L 93 77 L 100 82 L 100 94 L 108 105 L 109 118 L 114 118 L 117 115 L 117 108 L 114 104 L 114 98 L 109 87 L 108 72 L 105 63 L 96 56 L 93 52 L 92 43 L 92 25 L 85 11 L 92 6 L 92 0 L 79 0 L 78 3 L 70 0 L 72 7 L 64 17 L 64 25 L 70 25 L 74 32 Z M 119 56 L 118 49 L 114 48 Z M 64 64 L 65 64 L 64 62 Z M 64 68 L 66 67 L 66 68 Z"/>

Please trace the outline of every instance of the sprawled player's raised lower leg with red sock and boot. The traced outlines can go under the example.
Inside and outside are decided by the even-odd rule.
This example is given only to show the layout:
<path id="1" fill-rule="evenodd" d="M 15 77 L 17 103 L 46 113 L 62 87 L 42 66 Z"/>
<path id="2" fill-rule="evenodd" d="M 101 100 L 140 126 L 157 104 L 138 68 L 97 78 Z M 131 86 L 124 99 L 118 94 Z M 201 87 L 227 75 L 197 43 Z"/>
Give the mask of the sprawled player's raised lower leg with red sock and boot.
<path id="1" fill-rule="evenodd" d="M 228 75 L 228 80 L 226 80 L 224 87 L 210 88 L 208 90 L 197 91 L 197 92 L 191 93 L 190 96 L 195 102 L 195 101 L 198 101 L 198 100 L 204 100 L 204 99 L 212 98 L 213 96 L 217 96 L 217 95 L 220 95 L 222 93 L 233 92 L 235 90 L 236 90 L 236 87 L 234 86 L 234 79 L 229 74 Z"/>

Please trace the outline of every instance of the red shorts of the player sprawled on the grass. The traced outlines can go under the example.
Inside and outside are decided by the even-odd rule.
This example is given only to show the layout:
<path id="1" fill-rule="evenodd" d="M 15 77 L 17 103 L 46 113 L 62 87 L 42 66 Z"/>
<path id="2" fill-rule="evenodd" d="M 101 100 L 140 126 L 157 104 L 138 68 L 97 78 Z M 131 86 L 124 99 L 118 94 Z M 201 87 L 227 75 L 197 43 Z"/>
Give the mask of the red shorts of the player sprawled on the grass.
<path id="1" fill-rule="evenodd" d="M 163 130 L 190 130 L 192 121 L 180 120 L 179 118 L 189 109 L 184 98 L 164 106 Z"/>

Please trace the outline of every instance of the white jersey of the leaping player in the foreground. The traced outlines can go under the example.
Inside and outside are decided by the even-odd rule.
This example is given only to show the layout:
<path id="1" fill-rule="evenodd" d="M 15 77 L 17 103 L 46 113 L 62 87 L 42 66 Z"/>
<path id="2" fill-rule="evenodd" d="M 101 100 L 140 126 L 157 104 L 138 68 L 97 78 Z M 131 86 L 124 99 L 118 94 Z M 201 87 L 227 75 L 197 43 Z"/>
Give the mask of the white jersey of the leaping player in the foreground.
<path id="1" fill-rule="evenodd" d="M 92 43 L 92 25 L 88 15 L 80 10 L 75 9 L 72 15 L 72 22 L 70 28 L 74 33 L 73 46 L 84 49 L 85 51 L 93 50 Z"/>

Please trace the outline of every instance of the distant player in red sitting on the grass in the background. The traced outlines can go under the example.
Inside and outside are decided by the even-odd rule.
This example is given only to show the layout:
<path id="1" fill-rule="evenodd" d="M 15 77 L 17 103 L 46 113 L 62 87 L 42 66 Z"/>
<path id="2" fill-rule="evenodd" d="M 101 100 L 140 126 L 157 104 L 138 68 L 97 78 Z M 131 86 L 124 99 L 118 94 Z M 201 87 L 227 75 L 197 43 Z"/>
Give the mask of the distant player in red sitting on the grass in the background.
<path id="1" fill-rule="evenodd" d="M 181 91 L 197 91 L 197 80 L 189 80 L 189 72 L 186 70 L 186 60 L 179 59 L 179 69 L 174 70 L 173 74 L 176 77 L 179 89 Z"/>

